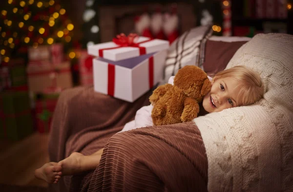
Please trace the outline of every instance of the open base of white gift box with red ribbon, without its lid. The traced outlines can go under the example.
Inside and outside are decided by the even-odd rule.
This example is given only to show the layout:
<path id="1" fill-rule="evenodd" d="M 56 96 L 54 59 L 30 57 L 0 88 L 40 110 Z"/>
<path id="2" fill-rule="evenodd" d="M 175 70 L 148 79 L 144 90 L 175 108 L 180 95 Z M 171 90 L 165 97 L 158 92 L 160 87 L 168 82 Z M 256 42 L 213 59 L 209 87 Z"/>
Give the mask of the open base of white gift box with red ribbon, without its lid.
<path id="1" fill-rule="evenodd" d="M 134 102 L 163 79 L 167 50 L 122 61 L 93 59 L 94 89 Z"/>

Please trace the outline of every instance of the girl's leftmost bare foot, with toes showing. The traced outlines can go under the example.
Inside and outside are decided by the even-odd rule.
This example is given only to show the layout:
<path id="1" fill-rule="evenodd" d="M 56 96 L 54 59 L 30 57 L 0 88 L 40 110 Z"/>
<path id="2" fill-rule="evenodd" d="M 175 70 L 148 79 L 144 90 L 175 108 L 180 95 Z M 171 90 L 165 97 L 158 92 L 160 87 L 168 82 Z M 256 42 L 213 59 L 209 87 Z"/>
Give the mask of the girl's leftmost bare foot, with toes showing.
<path id="1" fill-rule="evenodd" d="M 56 162 L 44 164 L 41 168 L 35 171 L 35 176 L 42 179 L 47 183 L 58 183 L 62 175 L 62 167 L 57 165 Z"/>

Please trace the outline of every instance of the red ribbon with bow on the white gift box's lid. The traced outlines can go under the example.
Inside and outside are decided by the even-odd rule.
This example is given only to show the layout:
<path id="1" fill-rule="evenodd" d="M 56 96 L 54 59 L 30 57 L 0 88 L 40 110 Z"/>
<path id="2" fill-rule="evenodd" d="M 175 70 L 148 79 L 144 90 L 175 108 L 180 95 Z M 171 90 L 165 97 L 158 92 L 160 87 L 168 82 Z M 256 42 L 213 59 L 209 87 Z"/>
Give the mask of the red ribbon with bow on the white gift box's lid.
<path id="1" fill-rule="evenodd" d="M 124 33 L 121 33 L 120 35 L 117 35 L 116 38 L 113 38 L 113 40 L 112 40 L 118 46 L 117 47 L 105 48 L 105 49 L 99 49 L 99 56 L 100 57 L 104 56 L 104 54 L 103 54 L 104 50 L 117 49 L 117 48 L 120 48 L 120 47 L 127 47 L 127 46 L 137 47 L 137 48 L 139 48 L 139 55 L 145 55 L 146 54 L 146 47 L 139 46 L 139 44 L 152 41 L 152 39 L 146 40 L 146 41 L 143 41 L 143 42 L 140 42 L 140 43 L 134 43 L 135 40 L 137 40 L 137 38 L 138 38 L 138 35 L 134 34 L 134 33 L 130 33 L 127 37 L 126 37 L 126 35 Z"/>

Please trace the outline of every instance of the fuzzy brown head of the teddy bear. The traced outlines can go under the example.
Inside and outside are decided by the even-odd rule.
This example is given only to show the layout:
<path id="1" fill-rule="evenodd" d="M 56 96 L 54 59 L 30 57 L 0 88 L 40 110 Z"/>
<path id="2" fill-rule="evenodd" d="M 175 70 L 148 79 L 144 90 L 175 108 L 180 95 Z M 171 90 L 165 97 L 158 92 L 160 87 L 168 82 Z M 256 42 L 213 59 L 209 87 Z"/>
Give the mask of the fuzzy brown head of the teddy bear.
<path id="1" fill-rule="evenodd" d="M 210 88 L 207 74 L 199 67 L 187 65 L 179 69 L 174 77 L 174 86 L 188 97 L 201 101 Z"/>

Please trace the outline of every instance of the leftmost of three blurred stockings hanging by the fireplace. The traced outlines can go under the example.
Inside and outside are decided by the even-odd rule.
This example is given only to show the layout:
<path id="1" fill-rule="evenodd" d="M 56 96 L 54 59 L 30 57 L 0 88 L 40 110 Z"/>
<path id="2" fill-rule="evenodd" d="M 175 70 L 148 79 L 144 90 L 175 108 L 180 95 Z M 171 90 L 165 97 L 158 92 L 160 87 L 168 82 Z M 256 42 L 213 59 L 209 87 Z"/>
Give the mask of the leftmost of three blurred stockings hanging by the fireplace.
<path id="1" fill-rule="evenodd" d="M 147 13 L 135 18 L 135 31 L 138 35 L 154 39 L 149 29 L 150 18 Z"/>

